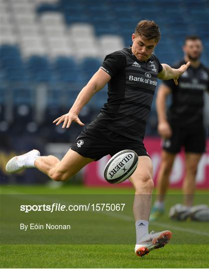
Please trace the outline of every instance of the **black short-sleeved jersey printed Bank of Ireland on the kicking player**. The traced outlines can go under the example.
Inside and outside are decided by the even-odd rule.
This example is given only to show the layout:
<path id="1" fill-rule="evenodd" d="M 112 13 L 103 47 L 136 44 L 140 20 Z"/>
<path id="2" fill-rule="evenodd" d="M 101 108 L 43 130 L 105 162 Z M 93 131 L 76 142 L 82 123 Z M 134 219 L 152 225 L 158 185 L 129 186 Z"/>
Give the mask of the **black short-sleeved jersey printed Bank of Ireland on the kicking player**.
<path id="1" fill-rule="evenodd" d="M 124 48 L 107 55 L 101 68 L 111 79 L 107 103 L 95 122 L 142 141 L 162 65 L 154 55 L 146 62 L 139 62 L 131 48 Z"/>

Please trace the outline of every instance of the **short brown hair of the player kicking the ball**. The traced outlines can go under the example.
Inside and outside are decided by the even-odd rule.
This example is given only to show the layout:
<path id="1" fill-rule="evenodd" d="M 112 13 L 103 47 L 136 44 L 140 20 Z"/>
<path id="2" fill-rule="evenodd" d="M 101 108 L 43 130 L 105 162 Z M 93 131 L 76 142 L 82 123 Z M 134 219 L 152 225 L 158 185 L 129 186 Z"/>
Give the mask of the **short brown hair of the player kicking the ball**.
<path id="1" fill-rule="evenodd" d="M 142 39 L 155 39 L 156 42 L 160 40 L 160 29 L 153 20 L 141 20 L 136 25 L 135 34 L 140 35 Z"/>

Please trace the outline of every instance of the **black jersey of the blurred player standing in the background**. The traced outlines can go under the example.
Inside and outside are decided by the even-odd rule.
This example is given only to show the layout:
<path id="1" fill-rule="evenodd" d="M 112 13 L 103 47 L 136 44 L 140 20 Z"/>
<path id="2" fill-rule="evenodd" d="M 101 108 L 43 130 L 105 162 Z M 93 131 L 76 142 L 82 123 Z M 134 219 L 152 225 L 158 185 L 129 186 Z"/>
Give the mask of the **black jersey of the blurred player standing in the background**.
<path id="1" fill-rule="evenodd" d="M 174 65 L 179 68 L 185 61 Z M 209 70 L 203 64 L 190 66 L 179 77 L 178 86 L 173 80 L 163 81 L 172 90 L 172 104 L 167 111 L 168 121 L 174 126 L 198 128 L 203 125 L 204 91 L 209 91 Z"/>

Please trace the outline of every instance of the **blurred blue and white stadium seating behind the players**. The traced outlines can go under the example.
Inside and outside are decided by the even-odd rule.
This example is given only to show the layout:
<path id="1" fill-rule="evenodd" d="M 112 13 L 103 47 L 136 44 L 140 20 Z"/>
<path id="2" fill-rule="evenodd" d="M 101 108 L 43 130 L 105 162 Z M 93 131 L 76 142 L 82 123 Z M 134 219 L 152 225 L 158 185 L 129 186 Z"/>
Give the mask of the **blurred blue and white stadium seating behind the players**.
<path id="1" fill-rule="evenodd" d="M 44 125 L 70 108 L 106 54 L 131 44 L 131 33 L 139 20 L 153 19 L 159 24 L 162 38 L 155 54 L 161 62 L 172 64 L 181 59 L 184 37 L 199 34 L 205 46 L 202 60 L 208 65 L 208 14 L 205 0 L 154 0 L 152 5 L 145 0 L 105 0 L 99 4 L 96 0 L 2 0 L 0 123 L 10 124 L 18 118 L 19 107 L 24 105 L 28 107 L 24 121 L 32 123 L 27 130 L 39 130 L 40 134 L 45 130 L 45 137 L 51 136 L 53 141 L 73 139 L 77 133 L 64 134 L 54 126 L 47 133 Z M 107 87 L 88 104 L 86 122 L 106 102 L 106 91 Z M 147 134 L 156 134 L 154 105 Z"/>

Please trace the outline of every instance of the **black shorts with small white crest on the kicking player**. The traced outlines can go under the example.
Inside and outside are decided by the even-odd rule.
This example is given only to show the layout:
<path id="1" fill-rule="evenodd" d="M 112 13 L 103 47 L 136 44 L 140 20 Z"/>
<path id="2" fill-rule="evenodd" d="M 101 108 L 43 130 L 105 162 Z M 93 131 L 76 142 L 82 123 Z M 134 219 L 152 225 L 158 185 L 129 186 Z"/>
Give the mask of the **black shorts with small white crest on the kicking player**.
<path id="1" fill-rule="evenodd" d="M 81 132 L 71 149 L 94 160 L 108 154 L 113 156 L 123 149 L 132 149 L 138 156 L 149 156 L 143 142 L 117 134 L 94 122 Z"/>

